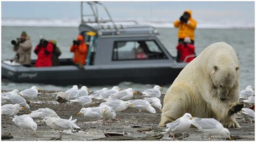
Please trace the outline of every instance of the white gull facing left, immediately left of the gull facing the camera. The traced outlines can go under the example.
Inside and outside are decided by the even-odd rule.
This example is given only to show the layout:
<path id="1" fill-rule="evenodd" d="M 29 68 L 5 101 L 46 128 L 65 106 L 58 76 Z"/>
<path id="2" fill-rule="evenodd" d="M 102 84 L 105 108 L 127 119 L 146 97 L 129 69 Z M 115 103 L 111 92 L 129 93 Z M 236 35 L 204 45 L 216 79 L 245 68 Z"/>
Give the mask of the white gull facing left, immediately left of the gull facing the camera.
<path id="1" fill-rule="evenodd" d="M 85 118 L 90 118 L 90 119 L 96 119 L 96 118 L 101 118 L 100 114 L 100 106 L 98 107 L 87 107 L 87 108 L 82 108 L 80 112 L 77 113 L 79 116 L 80 114 L 83 114 Z"/>

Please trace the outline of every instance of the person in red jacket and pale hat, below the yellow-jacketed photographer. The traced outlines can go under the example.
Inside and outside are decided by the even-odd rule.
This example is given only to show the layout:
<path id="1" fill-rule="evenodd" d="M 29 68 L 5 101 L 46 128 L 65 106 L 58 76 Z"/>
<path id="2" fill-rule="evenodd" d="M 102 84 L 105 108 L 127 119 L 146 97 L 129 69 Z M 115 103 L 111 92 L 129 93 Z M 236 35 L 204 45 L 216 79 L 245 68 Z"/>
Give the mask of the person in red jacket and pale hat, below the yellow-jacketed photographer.
<path id="1" fill-rule="evenodd" d="M 191 44 L 189 37 L 184 38 L 184 42 L 181 42 L 177 46 L 178 56 L 177 62 L 191 62 L 195 58 L 194 45 Z"/>

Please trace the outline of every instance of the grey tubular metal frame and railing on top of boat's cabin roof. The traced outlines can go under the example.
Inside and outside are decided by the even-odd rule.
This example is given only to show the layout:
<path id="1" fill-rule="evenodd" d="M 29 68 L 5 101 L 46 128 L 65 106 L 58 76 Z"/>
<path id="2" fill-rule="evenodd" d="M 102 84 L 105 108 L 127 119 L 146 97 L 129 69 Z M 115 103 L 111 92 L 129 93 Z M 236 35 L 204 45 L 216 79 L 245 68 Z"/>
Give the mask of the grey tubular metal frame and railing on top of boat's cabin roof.
<path id="1" fill-rule="evenodd" d="M 84 14 L 83 3 L 85 3 L 85 2 L 81 2 L 81 24 L 97 23 L 97 25 L 99 26 L 99 30 L 102 30 L 102 29 L 104 29 L 103 24 L 112 23 L 113 29 L 116 30 L 117 35 L 120 34 L 120 30 L 119 30 L 116 23 L 118 23 L 118 22 L 123 22 L 123 23 L 132 22 L 134 24 L 138 24 L 136 21 L 113 21 L 113 19 L 110 15 L 109 11 L 107 10 L 106 6 L 102 3 L 100 3 L 100 2 L 86 2 L 90 6 L 92 14 Z M 99 6 L 102 6 L 102 8 L 104 9 L 104 11 L 107 14 L 108 19 L 100 19 L 99 18 L 99 12 L 98 12 Z M 94 20 L 88 19 L 87 21 L 85 21 L 85 17 L 93 17 Z M 120 25 L 120 27 L 121 27 L 121 29 L 123 29 L 122 24 Z M 108 28 L 110 29 L 110 26 L 108 26 Z"/>

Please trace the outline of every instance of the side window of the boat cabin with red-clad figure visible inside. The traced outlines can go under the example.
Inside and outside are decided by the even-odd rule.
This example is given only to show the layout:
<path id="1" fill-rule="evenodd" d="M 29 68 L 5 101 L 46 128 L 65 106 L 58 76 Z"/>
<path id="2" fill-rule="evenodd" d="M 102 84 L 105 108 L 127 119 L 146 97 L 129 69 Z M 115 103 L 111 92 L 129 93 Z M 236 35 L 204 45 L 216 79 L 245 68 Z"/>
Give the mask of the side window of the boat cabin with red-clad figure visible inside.
<path id="1" fill-rule="evenodd" d="M 166 59 L 153 40 L 118 41 L 114 43 L 113 60 Z"/>

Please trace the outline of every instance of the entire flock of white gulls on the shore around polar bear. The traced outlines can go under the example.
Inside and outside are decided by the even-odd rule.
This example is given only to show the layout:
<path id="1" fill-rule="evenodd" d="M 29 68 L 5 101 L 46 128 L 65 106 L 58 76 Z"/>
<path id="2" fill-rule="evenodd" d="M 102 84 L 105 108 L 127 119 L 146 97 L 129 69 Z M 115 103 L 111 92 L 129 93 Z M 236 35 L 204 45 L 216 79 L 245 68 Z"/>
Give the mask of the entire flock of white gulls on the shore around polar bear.
<path id="1" fill-rule="evenodd" d="M 95 92 L 91 92 L 86 86 L 82 86 L 78 89 L 77 85 L 65 92 L 57 92 L 55 97 L 59 106 L 62 103 L 77 103 L 83 108 L 78 112 L 78 115 L 83 115 L 89 119 L 103 119 L 103 125 L 105 121 L 115 119 L 116 112 L 126 110 L 128 107 L 149 113 L 156 113 L 156 109 L 161 111 L 161 91 L 160 86 L 156 85 L 153 89 L 148 89 L 142 92 L 143 99 L 133 99 L 133 95 L 138 92 L 129 88 L 126 90 L 120 90 L 118 86 L 113 86 L 112 89 L 103 88 Z M 22 130 L 33 130 L 37 133 L 37 124 L 33 119 L 39 119 L 43 121 L 53 130 L 60 131 L 59 139 L 62 138 L 62 132 L 64 130 L 80 129 L 75 123 L 77 119 L 72 120 L 72 116 L 69 119 L 60 118 L 57 113 L 49 108 L 39 108 L 38 110 L 30 112 L 30 106 L 28 102 L 33 102 L 33 99 L 37 98 L 39 89 L 36 86 L 32 86 L 30 89 L 23 91 L 13 90 L 10 92 L 2 93 L 2 116 L 9 117 L 15 123 L 15 125 L 21 127 Z M 90 93 L 91 92 L 91 93 Z M 240 92 L 239 99 L 245 103 L 253 104 L 252 108 L 243 108 L 239 114 L 245 122 L 254 121 L 254 92 L 252 86 L 247 86 L 245 90 Z M 98 107 L 88 107 L 93 101 L 101 102 Z M 19 111 L 27 110 L 28 114 L 17 116 Z M 230 132 L 225 129 L 219 121 L 213 118 L 197 118 L 192 117 L 191 114 L 185 113 L 183 117 L 173 121 L 166 125 L 167 129 L 163 130 L 163 133 L 172 132 L 173 140 L 174 133 L 183 133 L 187 131 L 191 125 L 194 125 L 200 131 L 211 135 L 220 135 L 228 139 L 231 139 Z"/>

